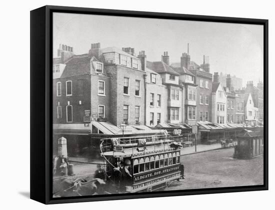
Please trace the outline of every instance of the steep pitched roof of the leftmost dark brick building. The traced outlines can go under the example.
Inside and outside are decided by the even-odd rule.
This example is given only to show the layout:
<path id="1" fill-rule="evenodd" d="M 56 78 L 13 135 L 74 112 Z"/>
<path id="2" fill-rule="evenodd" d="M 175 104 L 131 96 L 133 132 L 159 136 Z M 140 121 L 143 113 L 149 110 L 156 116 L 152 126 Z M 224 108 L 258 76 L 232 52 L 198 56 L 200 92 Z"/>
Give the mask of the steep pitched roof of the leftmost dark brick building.
<path id="1" fill-rule="evenodd" d="M 78 76 L 90 73 L 90 59 L 88 54 L 74 55 L 65 62 L 66 66 L 63 70 L 61 78 Z"/>

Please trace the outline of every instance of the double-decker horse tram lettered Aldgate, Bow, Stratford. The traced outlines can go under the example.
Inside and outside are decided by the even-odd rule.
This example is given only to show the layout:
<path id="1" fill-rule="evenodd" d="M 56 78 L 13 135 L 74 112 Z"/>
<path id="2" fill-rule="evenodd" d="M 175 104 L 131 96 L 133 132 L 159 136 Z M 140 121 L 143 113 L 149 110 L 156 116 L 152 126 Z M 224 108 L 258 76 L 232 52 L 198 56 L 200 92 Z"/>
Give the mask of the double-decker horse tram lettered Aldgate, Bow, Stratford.
<path id="1" fill-rule="evenodd" d="M 119 193 L 168 187 L 183 176 L 181 146 L 167 135 L 101 139 L 105 181 Z"/>

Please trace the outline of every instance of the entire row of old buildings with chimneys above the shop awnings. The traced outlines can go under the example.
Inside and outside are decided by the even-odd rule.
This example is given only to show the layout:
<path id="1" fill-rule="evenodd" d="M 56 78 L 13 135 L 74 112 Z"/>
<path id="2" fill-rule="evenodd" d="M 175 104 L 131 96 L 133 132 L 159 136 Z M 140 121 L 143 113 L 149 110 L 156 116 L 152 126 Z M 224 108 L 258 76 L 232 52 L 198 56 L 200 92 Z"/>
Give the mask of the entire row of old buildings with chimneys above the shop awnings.
<path id="1" fill-rule="evenodd" d="M 223 75 L 210 72 L 207 56 L 200 65 L 191 61 L 188 47 L 180 62 L 170 63 L 167 51 L 159 61 L 149 61 L 145 51 L 136 55 L 131 47 L 92 43 L 88 53 L 75 55 L 73 47 L 60 44 L 52 70 L 53 127 L 59 134 L 73 129 L 99 134 L 122 122 L 139 130 L 165 124 L 255 125 L 263 119 L 261 82 L 241 88 L 241 79 L 229 74 L 224 82 Z"/>

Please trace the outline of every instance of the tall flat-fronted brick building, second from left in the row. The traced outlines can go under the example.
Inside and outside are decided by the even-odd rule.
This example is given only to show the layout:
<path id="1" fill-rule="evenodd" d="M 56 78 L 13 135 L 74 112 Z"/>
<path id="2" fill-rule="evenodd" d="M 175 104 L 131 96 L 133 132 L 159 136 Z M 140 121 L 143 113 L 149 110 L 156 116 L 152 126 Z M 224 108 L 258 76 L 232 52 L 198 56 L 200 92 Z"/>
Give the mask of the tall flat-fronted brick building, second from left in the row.
<path id="1" fill-rule="evenodd" d="M 97 49 L 91 49 L 97 51 Z M 124 51 L 123 51 L 124 50 Z M 115 125 L 144 124 L 145 71 L 133 48 L 101 49 L 106 74 L 110 77 L 110 122 Z"/>

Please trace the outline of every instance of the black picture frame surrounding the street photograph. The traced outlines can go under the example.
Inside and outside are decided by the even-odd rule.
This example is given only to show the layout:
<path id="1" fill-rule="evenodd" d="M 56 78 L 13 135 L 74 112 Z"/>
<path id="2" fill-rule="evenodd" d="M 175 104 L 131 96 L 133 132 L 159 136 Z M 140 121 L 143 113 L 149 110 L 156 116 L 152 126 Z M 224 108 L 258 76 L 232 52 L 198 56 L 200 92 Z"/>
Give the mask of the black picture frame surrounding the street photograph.
<path id="1" fill-rule="evenodd" d="M 52 12 L 263 25 L 264 177 L 262 185 L 52 198 Z M 46 5 L 30 11 L 30 198 L 45 204 L 268 189 L 268 20 Z"/>

